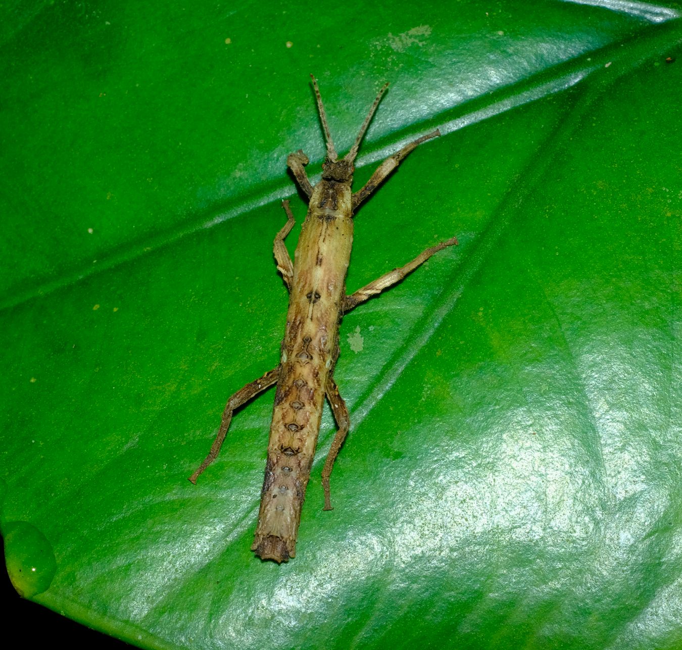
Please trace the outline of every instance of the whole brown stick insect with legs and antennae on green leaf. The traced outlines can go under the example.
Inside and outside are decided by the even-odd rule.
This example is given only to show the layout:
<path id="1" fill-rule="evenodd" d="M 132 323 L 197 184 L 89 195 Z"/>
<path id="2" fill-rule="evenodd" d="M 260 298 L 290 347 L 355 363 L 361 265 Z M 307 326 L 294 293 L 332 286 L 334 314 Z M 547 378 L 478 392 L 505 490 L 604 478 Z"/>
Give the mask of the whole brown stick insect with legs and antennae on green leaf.
<path id="1" fill-rule="evenodd" d="M 327 156 L 322 165 L 322 179 L 314 187 L 305 170 L 308 156 L 301 149 L 291 153 L 286 161 L 310 204 L 301 227 L 295 261 L 292 263 L 284 246 L 284 238 L 295 222 L 288 201 L 282 202 L 287 220 L 277 233 L 273 246 L 277 268 L 290 292 L 281 362 L 277 368 L 248 383 L 229 398 L 211 451 L 190 476 L 190 481 L 196 483 L 198 475 L 216 460 L 235 409 L 276 383 L 261 508 L 251 550 L 264 560 L 278 563 L 296 555 L 301 506 L 310 479 L 325 396 L 338 425 L 322 471 L 324 509 L 331 510 L 329 477 L 350 424 L 346 403 L 333 379 L 339 355 L 338 330 L 343 314 L 400 282 L 434 253 L 458 243 L 456 237 L 452 237 L 427 248 L 403 267 L 346 295 L 346 271 L 353 243 L 353 212 L 411 151 L 441 133 L 435 130 L 421 136 L 389 156 L 376 168 L 365 186 L 353 194 L 351 183 L 355 157 L 388 84 L 376 95 L 353 147 L 339 160 L 317 82 L 312 74 L 310 76 L 325 134 Z"/>

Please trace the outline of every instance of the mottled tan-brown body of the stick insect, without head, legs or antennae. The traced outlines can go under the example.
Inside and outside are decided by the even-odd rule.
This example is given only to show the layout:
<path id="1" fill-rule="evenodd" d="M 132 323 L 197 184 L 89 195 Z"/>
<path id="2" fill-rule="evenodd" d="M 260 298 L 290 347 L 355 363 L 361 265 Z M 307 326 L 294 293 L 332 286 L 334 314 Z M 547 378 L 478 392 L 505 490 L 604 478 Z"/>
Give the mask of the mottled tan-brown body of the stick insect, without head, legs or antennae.
<path id="1" fill-rule="evenodd" d="M 294 257 L 261 510 L 252 546 L 263 559 L 282 561 L 295 555 L 352 244 L 351 188 L 323 180 L 313 191 Z"/>

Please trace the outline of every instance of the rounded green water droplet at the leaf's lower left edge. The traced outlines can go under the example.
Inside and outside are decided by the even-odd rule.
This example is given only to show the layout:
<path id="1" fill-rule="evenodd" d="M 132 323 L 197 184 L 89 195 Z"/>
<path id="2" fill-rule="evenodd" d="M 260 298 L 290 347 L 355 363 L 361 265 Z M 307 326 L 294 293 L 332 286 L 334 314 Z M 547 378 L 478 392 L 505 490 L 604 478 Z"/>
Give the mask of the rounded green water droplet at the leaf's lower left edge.
<path id="1" fill-rule="evenodd" d="M 14 589 L 30 598 L 46 591 L 57 571 L 55 553 L 35 526 L 23 521 L 3 525 L 5 563 Z"/>

